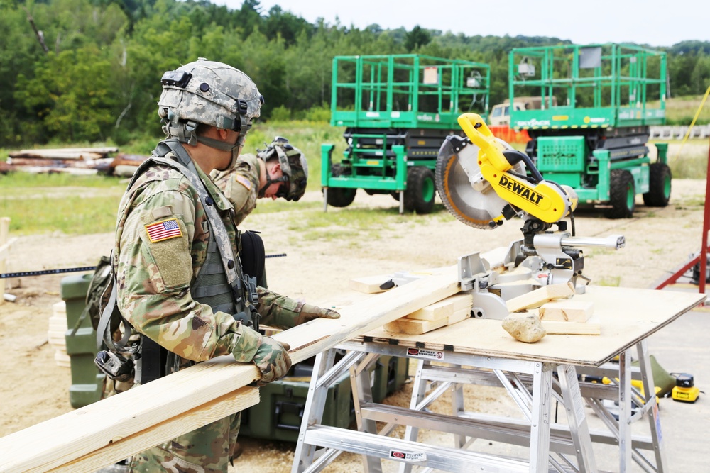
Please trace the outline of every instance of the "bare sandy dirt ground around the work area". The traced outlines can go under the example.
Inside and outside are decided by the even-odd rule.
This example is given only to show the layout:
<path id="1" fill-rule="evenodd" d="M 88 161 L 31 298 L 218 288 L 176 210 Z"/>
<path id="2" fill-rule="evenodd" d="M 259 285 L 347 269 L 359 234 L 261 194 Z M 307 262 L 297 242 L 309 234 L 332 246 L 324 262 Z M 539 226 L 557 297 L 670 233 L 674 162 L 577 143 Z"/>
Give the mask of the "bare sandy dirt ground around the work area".
<path id="1" fill-rule="evenodd" d="M 584 274 L 592 284 L 648 288 L 687 262 L 701 247 L 705 182 L 674 179 L 671 204 L 647 208 L 638 197 L 634 218 L 608 220 L 599 210 L 576 213 L 577 235 L 622 234 L 626 247 L 618 252 L 586 250 Z M 311 192 L 305 201 L 321 201 L 320 192 Z M 268 206 L 261 202 L 259 206 Z M 348 212 L 354 208 L 387 207 L 397 204 L 389 196 L 367 196 L 359 191 L 349 208 L 329 208 Z M 299 204 L 293 204 L 298 213 Z M 507 222 L 496 230 L 465 226 L 439 206 L 439 211 L 422 218 L 397 219 L 355 242 L 349 238 L 302 240 L 289 230 L 293 215 L 261 213 L 250 216 L 245 229 L 260 230 L 266 253 L 285 252 L 286 257 L 268 259 L 266 268 L 271 289 L 313 304 L 347 304 L 353 293 L 348 281 L 353 277 L 417 270 L 455 264 L 457 257 L 507 246 L 520 238 L 519 225 Z M 413 223 L 416 221 L 417 223 Z M 332 233 L 348 228 L 329 228 Z M 57 269 L 95 265 L 107 255 L 112 234 L 70 237 L 62 234 L 31 235 L 13 246 L 8 272 Z M 58 367 L 54 349 L 48 344 L 48 318 L 60 301 L 60 282 L 67 274 L 24 277 L 10 280 L 6 292 L 17 297 L 0 305 L 0 352 L 4 364 L 0 383 L 0 437 L 70 411 L 68 388 L 70 369 Z M 18 286 L 19 284 L 19 286 Z M 393 404 L 408 404 L 411 384 L 388 398 Z M 507 412 L 510 405 L 495 388 L 479 388 L 466 408 L 486 413 Z M 428 435 L 428 434 L 427 434 Z M 285 472 L 293 460 L 292 443 L 242 439 L 244 455 L 235 462 L 234 472 Z M 362 471 L 359 457 L 341 455 L 326 471 Z M 389 470 L 388 470 L 389 471 Z"/>

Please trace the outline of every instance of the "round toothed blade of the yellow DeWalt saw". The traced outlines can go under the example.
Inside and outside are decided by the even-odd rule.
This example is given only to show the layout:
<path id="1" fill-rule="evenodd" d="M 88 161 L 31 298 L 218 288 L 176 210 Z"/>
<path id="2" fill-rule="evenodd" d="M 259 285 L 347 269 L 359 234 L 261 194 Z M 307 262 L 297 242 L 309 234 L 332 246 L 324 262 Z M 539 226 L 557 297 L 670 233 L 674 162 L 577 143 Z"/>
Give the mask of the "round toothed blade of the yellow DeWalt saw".
<path id="1" fill-rule="evenodd" d="M 468 138 L 464 138 L 466 143 L 462 148 L 455 147 L 452 138 L 460 143 L 458 137 L 447 137 L 437 157 L 435 182 L 439 198 L 449 213 L 466 225 L 482 229 L 498 227 L 497 222 L 503 221 L 503 207 L 508 202 L 501 199 L 485 181 L 477 186 L 481 190 L 474 189 L 461 165 L 459 153 L 475 153 L 473 156 L 477 158 L 479 147 Z M 458 152 L 457 148 L 460 148 Z M 466 160 L 466 167 L 469 174 L 480 174 L 477 159 Z"/>

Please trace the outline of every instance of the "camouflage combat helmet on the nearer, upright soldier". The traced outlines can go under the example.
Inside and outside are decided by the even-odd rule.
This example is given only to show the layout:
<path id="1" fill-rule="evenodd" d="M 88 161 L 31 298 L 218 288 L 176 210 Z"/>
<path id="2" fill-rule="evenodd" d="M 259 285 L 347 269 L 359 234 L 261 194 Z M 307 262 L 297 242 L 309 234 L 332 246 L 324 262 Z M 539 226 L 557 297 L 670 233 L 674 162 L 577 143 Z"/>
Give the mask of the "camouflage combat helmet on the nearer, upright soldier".
<path id="1" fill-rule="evenodd" d="M 244 72 L 202 57 L 165 72 L 160 82 L 163 93 L 158 101 L 158 115 L 163 119 L 163 131 L 189 145 L 200 141 L 213 148 L 232 148 L 217 140 L 198 137 L 195 133 L 198 123 L 239 131 L 236 145 L 244 145 L 246 132 L 252 120 L 258 118 L 264 102 L 256 84 Z"/>

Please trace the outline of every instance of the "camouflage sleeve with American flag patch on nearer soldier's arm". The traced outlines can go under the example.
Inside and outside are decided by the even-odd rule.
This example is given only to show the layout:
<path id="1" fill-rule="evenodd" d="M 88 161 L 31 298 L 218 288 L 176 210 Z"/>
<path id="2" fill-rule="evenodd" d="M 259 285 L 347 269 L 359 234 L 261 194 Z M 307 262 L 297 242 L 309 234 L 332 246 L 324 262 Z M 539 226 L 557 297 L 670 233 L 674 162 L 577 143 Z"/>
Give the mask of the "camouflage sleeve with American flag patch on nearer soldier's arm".
<path id="1" fill-rule="evenodd" d="M 190 294 L 194 196 L 168 180 L 149 184 L 144 194 L 116 234 L 121 313 L 138 332 L 188 360 L 229 354 L 249 329 Z"/>

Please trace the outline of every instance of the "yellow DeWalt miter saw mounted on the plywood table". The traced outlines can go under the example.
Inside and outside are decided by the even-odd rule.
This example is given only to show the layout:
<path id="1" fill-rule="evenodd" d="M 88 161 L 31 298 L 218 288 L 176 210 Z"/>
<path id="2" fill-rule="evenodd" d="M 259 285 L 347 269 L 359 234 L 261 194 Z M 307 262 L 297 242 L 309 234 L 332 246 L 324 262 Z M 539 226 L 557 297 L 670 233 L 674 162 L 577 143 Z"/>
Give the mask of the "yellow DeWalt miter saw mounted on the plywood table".
<path id="1" fill-rule="evenodd" d="M 503 318 L 506 300 L 547 284 L 572 282 L 577 293 L 584 292 L 589 279 L 582 276 L 579 247 L 618 250 L 623 235 L 575 236 L 574 189 L 545 181 L 528 155 L 496 138 L 476 113 L 464 113 L 458 122 L 466 137 L 447 136 L 437 157 L 435 181 L 444 206 L 475 228 L 523 220 L 523 239 L 511 243 L 493 269 L 479 253 L 459 257 L 461 290 L 474 293 L 474 315 Z"/>

